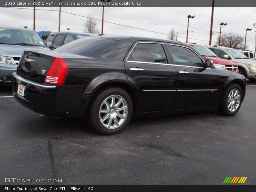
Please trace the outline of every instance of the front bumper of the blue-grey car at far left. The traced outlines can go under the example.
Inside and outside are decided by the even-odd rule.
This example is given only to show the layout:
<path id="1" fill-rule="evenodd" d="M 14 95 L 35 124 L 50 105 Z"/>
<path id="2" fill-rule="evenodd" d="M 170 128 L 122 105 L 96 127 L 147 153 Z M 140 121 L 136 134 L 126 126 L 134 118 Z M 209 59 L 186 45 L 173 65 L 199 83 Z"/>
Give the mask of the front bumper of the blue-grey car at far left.
<path id="1" fill-rule="evenodd" d="M 12 73 L 16 71 L 16 65 L 0 63 L 0 86 L 12 85 Z"/>

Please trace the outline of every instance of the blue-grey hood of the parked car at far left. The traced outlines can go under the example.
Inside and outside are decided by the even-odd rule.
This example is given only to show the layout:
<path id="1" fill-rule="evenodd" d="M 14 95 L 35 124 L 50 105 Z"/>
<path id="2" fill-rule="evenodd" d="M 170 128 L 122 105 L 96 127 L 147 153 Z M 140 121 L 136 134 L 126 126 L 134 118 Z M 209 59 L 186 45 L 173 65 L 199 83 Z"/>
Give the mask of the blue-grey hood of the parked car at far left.
<path id="1" fill-rule="evenodd" d="M 0 44 L 0 55 L 7 57 L 21 57 L 24 51 L 50 50 L 48 47 L 27 46 L 27 45 L 8 45 Z"/>

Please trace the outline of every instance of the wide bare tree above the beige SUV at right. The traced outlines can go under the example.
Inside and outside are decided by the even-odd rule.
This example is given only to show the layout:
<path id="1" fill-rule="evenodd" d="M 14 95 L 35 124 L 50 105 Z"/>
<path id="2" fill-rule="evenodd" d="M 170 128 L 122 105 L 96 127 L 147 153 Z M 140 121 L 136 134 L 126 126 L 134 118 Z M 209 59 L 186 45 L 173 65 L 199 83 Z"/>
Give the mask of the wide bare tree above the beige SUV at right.
<path id="1" fill-rule="evenodd" d="M 217 38 L 219 42 L 219 37 Z M 230 47 L 234 49 L 243 49 L 244 37 L 235 33 L 228 33 L 222 35 L 220 38 L 220 45 L 225 47 Z"/>

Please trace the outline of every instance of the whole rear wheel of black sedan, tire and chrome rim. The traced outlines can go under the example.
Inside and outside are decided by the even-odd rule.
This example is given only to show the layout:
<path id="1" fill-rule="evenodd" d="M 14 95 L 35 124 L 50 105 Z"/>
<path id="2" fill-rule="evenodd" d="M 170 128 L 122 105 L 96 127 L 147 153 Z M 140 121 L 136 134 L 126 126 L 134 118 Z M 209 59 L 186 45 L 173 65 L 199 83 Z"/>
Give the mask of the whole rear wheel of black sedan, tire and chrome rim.
<path id="1" fill-rule="evenodd" d="M 132 100 L 121 88 L 111 87 L 98 94 L 91 105 L 88 122 L 104 135 L 121 132 L 132 117 Z"/>

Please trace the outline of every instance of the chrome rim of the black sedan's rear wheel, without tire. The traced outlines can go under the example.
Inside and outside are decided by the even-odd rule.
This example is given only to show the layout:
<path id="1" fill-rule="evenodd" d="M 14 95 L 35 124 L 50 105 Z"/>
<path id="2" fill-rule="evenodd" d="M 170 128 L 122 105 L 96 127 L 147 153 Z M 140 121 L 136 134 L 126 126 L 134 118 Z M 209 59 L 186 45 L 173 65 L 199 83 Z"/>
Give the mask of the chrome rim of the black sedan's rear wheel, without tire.
<path id="1" fill-rule="evenodd" d="M 120 95 L 111 95 L 100 106 L 100 123 L 108 129 L 116 129 L 124 123 L 127 114 L 126 100 Z"/>

